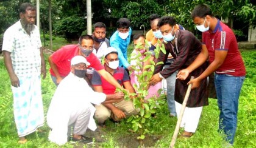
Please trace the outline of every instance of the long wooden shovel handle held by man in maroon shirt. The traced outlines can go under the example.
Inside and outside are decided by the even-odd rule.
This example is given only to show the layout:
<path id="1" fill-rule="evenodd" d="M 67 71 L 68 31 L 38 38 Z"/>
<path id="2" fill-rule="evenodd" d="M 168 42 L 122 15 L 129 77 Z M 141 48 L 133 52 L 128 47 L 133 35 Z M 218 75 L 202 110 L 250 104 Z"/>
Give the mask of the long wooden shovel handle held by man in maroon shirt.
<path id="1" fill-rule="evenodd" d="M 191 80 L 191 79 L 194 79 L 194 76 L 191 76 L 190 80 Z M 186 95 L 185 95 L 185 98 L 184 98 L 184 100 L 183 100 L 182 108 L 180 109 L 180 115 L 179 115 L 179 118 L 178 118 L 178 121 L 177 121 L 175 130 L 174 130 L 174 133 L 173 133 L 173 136 L 172 136 L 172 139 L 171 139 L 170 147 L 174 147 L 174 144 L 175 144 L 175 142 L 176 142 L 176 138 L 177 138 L 177 135 L 178 135 L 178 133 L 179 133 L 180 124 L 181 124 L 182 117 L 183 117 L 183 113 L 184 113 L 184 111 L 185 111 L 185 107 L 186 107 L 187 102 L 188 102 L 188 97 L 190 96 L 191 86 L 192 86 L 192 84 L 188 85 L 188 90 L 187 90 Z"/>

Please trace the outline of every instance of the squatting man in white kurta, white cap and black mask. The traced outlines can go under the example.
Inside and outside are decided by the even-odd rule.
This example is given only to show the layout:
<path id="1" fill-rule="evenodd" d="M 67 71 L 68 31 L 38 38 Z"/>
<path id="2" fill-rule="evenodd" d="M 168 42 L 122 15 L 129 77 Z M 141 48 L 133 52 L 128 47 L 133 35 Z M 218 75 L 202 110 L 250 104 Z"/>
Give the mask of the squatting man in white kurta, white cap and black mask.
<path id="1" fill-rule="evenodd" d="M 57 87 L 49 106 L 47 121 L 51 132 L 49 140 L 59 145 L 68 141 L 68 136 L 73 127 L 72 141 L 88 144 L 92 140 L 83 136 L 87 127 L 96 129 L 93 119 L 95 108 L 93 104 L 100 104 L 103 101 L 112 103 L 104 93 L 94 92 L 85 81 L 87 66 L 90 63 L 84 56 L 74 56 L 71 59 L 71 72 Z M 115 94 L 114 101 L 123 99 L 123 93 Z M 106 100 L 105 100 L 106 99 Z"/>

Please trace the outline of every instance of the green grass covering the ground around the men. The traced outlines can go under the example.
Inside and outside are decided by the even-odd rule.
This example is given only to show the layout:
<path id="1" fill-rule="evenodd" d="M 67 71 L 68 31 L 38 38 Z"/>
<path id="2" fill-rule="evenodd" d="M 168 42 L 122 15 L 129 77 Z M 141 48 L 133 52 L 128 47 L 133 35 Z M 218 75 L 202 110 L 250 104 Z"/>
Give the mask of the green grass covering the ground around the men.
<path id="1" fill-rule="evenodd" d="M 62 44 L 55 43 L 61 39 L 55 38 L 54 44 L 56 49 Z M 58 46 L 58 47 L 57 47 Z M 129 47 L 129 53 L 132 47 Z M 241 51 L 244 63 L 246 64 L 246 79 L 243 84 L 240 95 L 240 104 L 238 110 L 238 128 L 236 130 L 234 147 L 256 147 L 256 50 L 242 50 Z M 46 55 L 45 58 L 48 56 Z M 47 62 L 47 69 L 49 64 Z M 4 67 L 4 62 L 0 59 L 0 147 L 59 147 L 48 141 L 49 127 L 45 123 L 41 127 L 41 132 L 35 132 L 27 136 L 29 140 L 24 145 L 19 145 L 18 135 L 16 133 L 16 126 L 13 118 L 13 98 L 10 89 L 10 79 Z M 49 72 L 46 79 L 42 80 L 42 94 L 44 104 L 44 115 L 48 111 L 51 98 L 54 94 L 55 86 L 51 81 Z M 217 132 L 218 129 L 218 106 L 216 99 L 209 99 L 209 106 L 204 107 L 202 116 L 199 121 L 199 126 L 196 133 L 189 140 L 176 141 L 176 147 L 222 147 L 223 135 Z M 160 139 L 154 147 L 169 147 L 172 134 L 174 132 L 177 119 L 170 118 L 167 104 L 162 106 L 162 109 L 157 110 L 157 118 L 150 118 L 147 124 L 149 135 L 157 135 Z M 107 128 L 103 129 L 105 134 L 102 138 L 107 140 L 100 145 L 93 145 L 92 147 L 122 147 L 123 137 L 134 135 L 134 133 L 127 132 L 129 125 L 125 120 L 118 125 L 107 121 Z M 181 130 L 180 130 L 181 131 Z M 81 147 L 70 143 L 63 147 Z"/>

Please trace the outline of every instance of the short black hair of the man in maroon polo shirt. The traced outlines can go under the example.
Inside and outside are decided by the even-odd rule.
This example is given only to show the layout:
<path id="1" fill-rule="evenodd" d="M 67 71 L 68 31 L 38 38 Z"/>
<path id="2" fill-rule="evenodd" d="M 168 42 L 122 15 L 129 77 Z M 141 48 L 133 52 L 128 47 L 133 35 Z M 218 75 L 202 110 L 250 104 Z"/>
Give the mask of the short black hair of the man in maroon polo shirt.
<path id="1" fill-rule="evenodd" d="M 207 15 L 213 16 L 212 10 L 207 4 L 196 5 L 191 13 L 192 19 L 196 17 L 205 18 Z"/>

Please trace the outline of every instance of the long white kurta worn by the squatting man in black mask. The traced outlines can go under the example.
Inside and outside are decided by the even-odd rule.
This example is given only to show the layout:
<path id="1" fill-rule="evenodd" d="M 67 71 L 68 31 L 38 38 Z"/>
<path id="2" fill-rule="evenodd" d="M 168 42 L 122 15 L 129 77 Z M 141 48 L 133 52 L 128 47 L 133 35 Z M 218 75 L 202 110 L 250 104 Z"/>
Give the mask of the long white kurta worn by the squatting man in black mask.
<path id="1" fill-rule="evenodd" d="M 59 145 L 65 144 L 68 140 L 68 122 L 71 112 L 78 109 L 87 108 L 93 110 L 88 124 L 88 128 L 95 130 L 97 128 L 93 119 L 95 108 L 91 103 L 99 105 L 105 101 L 104 93 L 94 92 L 83 78 L 69 73 L 66 78 L 60 82 L 47 113 L 47 123 L 51 127 L 49 140 Z"/>

